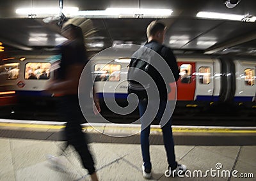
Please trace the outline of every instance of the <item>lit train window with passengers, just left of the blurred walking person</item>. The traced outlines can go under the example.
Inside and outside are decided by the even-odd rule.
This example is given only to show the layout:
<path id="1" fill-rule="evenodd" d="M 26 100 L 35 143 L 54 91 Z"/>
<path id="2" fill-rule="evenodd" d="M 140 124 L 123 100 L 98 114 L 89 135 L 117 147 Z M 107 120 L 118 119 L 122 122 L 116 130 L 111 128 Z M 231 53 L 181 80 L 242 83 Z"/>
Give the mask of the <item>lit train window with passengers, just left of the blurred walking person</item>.
<path id="1" fill-rule="evenodd" d="M 50 78 L 50 63 L 29 62 L 25 66 L 25 79 L 45 80 Z"/>

